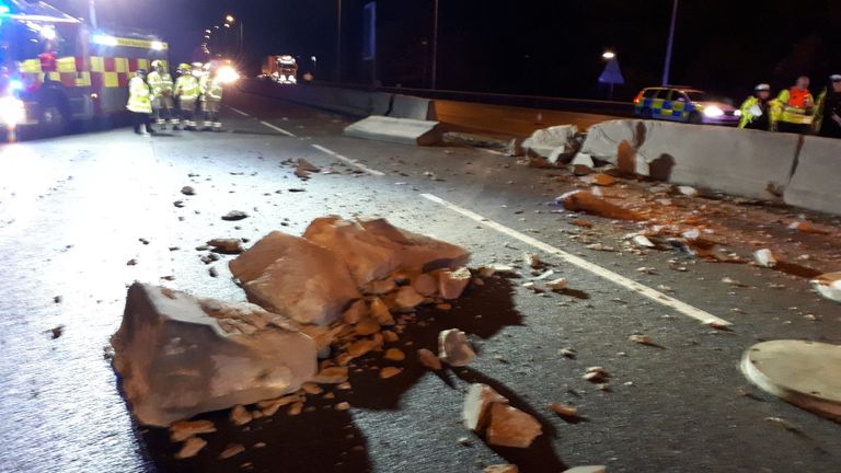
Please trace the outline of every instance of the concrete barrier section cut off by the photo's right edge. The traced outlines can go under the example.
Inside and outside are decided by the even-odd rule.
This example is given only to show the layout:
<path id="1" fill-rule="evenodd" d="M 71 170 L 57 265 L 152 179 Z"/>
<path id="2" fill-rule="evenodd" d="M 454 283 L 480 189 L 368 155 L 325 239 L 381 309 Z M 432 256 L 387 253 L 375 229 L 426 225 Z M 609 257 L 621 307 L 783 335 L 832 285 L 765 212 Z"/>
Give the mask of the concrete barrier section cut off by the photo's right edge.
<path id="1" fill-rule="evenodd" d="M 809 210 L 841 215 L 841 140 L 804 138 L 783 199 Z"/>

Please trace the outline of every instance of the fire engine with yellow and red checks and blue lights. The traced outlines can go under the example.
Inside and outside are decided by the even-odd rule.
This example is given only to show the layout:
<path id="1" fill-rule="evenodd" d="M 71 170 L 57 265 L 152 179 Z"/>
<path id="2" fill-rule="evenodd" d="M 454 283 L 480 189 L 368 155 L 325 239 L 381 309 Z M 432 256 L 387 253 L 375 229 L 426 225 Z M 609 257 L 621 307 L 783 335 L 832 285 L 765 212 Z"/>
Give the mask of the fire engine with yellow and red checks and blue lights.
<path id="1" fill-rule="evenodd" d="M 125 112 L 128 81 L 169 46 L 95 30 L 41 1 L 0 0 L 0 125 L 55 135 L 72 120 Z"/>

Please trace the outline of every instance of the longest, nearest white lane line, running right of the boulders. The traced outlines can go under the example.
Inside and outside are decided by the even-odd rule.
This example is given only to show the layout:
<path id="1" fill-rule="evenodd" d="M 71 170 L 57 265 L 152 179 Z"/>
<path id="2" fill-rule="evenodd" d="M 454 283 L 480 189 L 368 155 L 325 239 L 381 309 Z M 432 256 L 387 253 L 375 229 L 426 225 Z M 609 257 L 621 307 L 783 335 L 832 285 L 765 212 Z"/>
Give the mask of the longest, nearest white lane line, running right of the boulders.
<path id="1" fill-rule="evenodd" d="M 626 289 L 630 289 L 633 292 L 636 292 L 641 296 L 645 296 L 648 299 L 660 303 L 663 305 L 666 305 L 668 308 L 671 308 L 683 315 L 688 315 L 692 319 L 699 320 L 705 324 L 716 324 L 721 326 L 729 326 L 731 325 L 729 322 L 727 322 L 724 319 L 719 319 L 706 311 L 703 311 L 701 309 L 698 309 L 696 307 L 690 305 L 683 301 L 679 301 L 670 296 L 667 296 L 660 291 L 654 290 L 649 288 L 648 286 L 644 286 L 633 279 L 629 279 L 624 276 L 621 276 L 617 273 L 613 273 L 610 269 L 606 269 L 595 263 L 590 263 L 587 259 L 584 259 L 581 257 L 578 257 L 574 254 L 567 253 L 563 250 L 556 249 L 550 244 L 543 243 L 540 240 L 533 239 L 527 234 L 520 233 L 517 230 L 514 230 L 511 228 L 505 227 L 502 223 L 497 223 L 491 219 L 484 218 L 479 214 L 472 212 L 468 209 L 461 208 L 459 206 L 456 206 L 453 204 L 448 203 L 447 200 L 443 200 L 440 197 L 436 197 L 431 194 L 420 194 L 422 197 L 431 200 L 436 204 L 440 204 L 443 207 L 447 207 L 448 209 L 461 214 L 464 217 L 468 217 L 470 219 L 473 219 L 486 227 L 489 227 L 500 233 L 505 233 L 509 236 L 516 238 L 517 240 L 529 244 L 540 251 L 543 251 L 545 253 L 549 253 L 553 256 L 557 256 L 561 259 L 564 259 L 565 262 L 573 264 L 575 266 L 578 266 L 581 269 L 585 269 L 587 272 L 590 272 L 595 274 L 596 276 L 599 276 L 601 278 L 604 278 L 618 286 L 622 286 Z"/>

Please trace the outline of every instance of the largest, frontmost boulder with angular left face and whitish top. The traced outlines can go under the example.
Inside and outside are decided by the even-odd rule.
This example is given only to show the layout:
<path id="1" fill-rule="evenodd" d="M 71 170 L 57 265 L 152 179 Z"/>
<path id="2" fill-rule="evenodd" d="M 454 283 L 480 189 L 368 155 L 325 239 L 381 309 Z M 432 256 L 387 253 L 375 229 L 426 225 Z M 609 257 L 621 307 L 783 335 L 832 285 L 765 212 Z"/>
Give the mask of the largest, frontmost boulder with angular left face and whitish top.
<path id="1" fill-rule="evenodd" d="M 111 343 L 124 395 L 143 425 L 277 397 L 316 372 L 315 343 L 295 322 L 139 282 Z"/>

